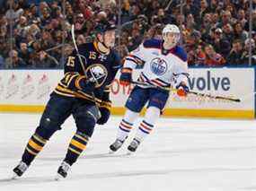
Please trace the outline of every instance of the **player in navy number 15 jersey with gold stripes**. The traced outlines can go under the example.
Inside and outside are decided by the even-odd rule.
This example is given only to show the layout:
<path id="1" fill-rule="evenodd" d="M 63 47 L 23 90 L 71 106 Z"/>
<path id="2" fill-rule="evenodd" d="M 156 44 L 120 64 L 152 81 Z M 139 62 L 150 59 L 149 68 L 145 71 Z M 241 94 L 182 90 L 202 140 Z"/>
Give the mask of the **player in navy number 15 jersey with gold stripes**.
<path id="1" fill-rule="evenodd" d="M 120 67 L 119 55 L 112 49 L 115 29 L 110 22 L 99 23 L 95 41 L 80 45 L 79 55 L 74 50 L 67 57 L 65 75 L 51 93 L 40 124 L 22 154 L 22 161 L 13 169 L 14 178 L 22 176 L 49 138 L 72 115 L 76 132 L 68 145 L 65 159 L 57 169 L 57 179 L 66 178 L 68 169 L 86 148 L 94 126 L 108 121 L 110 84 Z"/>

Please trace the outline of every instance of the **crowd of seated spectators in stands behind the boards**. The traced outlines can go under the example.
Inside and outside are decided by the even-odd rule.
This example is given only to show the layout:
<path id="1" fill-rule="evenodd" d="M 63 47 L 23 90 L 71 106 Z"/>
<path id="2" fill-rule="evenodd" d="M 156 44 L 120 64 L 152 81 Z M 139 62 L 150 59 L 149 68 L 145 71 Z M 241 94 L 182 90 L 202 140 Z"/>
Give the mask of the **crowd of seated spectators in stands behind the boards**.
<path id="1" fill-rule="evenodd" d="M 124 57 L 145 39 L 161 39 L 166 23 L 181 30 L 192 66 L 256 65 L 256 0 L 0 0 L 0 68 L 62 68 L 78 44 L 93 40 L 97 22 L 119 24 Z"/>

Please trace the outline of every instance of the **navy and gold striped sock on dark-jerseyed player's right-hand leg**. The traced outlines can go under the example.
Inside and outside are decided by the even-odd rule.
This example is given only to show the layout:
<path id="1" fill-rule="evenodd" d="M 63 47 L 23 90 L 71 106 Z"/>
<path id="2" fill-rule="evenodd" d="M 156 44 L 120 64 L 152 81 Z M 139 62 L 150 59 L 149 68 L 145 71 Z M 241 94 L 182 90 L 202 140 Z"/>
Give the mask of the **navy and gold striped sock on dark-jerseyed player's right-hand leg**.
<path id="1" fill-rule="evenodd" d="M 68 150 L 66 152 L 65 160 L 70 166 L 75 163 L 77 158 L 86 148 L 86 144 L 89 141 L 89 136 L 84 135 L 80 132 L 76 132 L 71 139 Z"/>

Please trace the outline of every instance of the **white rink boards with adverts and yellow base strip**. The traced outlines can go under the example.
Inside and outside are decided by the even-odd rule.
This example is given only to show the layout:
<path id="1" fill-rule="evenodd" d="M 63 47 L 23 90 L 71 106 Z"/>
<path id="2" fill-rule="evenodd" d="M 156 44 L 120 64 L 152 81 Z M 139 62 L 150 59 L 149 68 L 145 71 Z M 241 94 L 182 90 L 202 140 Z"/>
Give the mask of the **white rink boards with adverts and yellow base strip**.
<path id="1" fill-rule="evenodd" d="M 138 73 L 137 73 L 138 74 Z M 134 78 L 136 79 L 137 74 Z M 0 112 L 41 112 L 49 93 L 63 76 L 62 70 L 0 70 Z M 119 85 L 119 74 L 111 87 L 112 113 L 124 113 L 132 87 Z M 191 91 L 240 99 L 241 102 L 189 95 L 181 98 L 171 91 L 163 115 L 166 117 L 254 118 L 254 68 L 190 69 Z"/>

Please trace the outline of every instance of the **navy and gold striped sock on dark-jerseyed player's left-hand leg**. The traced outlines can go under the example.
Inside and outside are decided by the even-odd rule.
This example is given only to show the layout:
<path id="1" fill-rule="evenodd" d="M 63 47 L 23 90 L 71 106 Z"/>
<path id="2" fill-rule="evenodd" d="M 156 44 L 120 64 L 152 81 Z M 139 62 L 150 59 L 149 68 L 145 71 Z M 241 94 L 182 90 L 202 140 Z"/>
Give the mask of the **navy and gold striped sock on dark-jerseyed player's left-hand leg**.
<path id="1" fill-rule="evenodd" d="M 31 161 L 33 161 L 38 153 L 42 150 L 46 142 L 47 140 L 40 137 L 40 135 L 32 135 L 22 155 L 22 161 L 29 166 Z"/>

